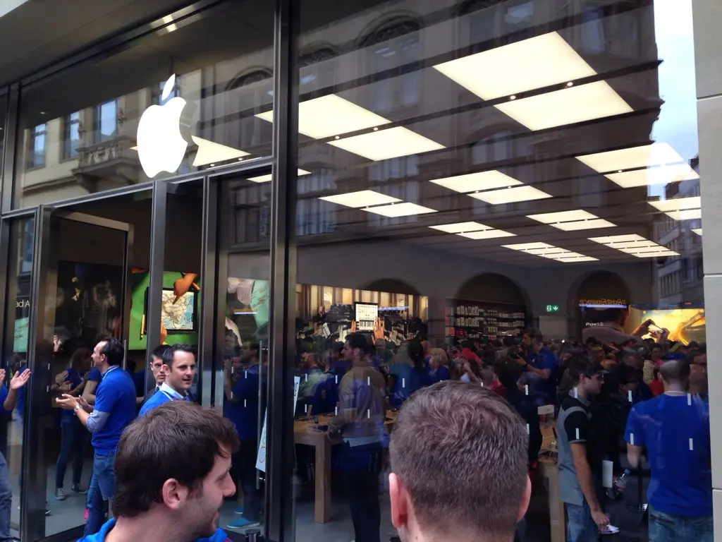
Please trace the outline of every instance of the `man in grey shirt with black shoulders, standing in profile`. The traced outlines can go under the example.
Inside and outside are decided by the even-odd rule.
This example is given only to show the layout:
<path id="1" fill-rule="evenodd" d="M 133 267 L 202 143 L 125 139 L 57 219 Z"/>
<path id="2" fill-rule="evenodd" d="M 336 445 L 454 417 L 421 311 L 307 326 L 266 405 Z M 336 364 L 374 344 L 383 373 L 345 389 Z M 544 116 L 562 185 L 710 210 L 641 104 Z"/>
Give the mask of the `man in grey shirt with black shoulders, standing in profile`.
<path id="1" fill-rule="evenodd" d="M 593 364 L 585 354 L 574 353 L 567 360 L 573 382 L 562 401 L 557 419 L 560 497 L 567 511 L 567 542 L 594 542 L 599 530 L 609 524 L 596 498 L 590 461 L 591 437 L 588 397 L 597 395 L 607 371 Z"/>

